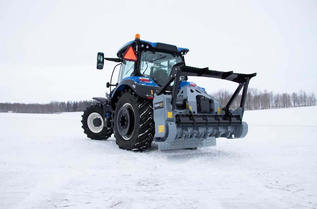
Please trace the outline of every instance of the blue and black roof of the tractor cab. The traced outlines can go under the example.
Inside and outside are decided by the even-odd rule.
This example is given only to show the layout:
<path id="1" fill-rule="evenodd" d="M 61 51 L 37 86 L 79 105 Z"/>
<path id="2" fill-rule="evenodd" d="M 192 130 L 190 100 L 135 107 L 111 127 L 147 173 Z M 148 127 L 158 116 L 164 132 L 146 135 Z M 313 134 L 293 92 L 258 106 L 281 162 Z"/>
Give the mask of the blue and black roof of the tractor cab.
<path id="1" fill-rule="evenodd" d="M 117 52 L 117 56 L 120 57 L 119 55 L 124 53 L 124 51 L 126 50 L 126 48 L 128 46 L 132 46 L 135 43 L 135 40 L 130 41 L 128 43 L 126 43 L 125 45 L 121 46 L 120 49 Z M 143 47 L 142 47 L 143 45 Z M 187 54 L 187 52 L 189 52 L 189 49 L 187 48 L 180 48 L 177 47 L 175 45 L 170 45 L 170 44 L 165 44 L 165 43 L 160 43 L 160 42 L 150 42 L 150 41 L 145 41 L 145 40 L 140 40 L 140 44 L 139 47 L 141 49 L 160 49 L 160 50 L 164 50 L 164 51 L 171 51 L 171 52 L 176 52 L 176 53 L 180 53 L 182 55 Z"/>

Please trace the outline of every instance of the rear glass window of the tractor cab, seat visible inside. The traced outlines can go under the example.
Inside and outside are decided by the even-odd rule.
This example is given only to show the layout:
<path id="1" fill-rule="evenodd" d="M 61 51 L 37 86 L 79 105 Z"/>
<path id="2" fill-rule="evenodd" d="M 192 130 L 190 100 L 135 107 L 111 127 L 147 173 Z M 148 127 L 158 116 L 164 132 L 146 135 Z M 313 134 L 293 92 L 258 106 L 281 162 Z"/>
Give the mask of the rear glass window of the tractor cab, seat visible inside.
<path id="1" fill-rule="evenodd" d="M 182 62 L 181 56 L 167 54 L 163 52 L 143 51 L 141 53 L 140 73 L 143 76 L 152 78 L 159 85 L 163 85 L 171 74 L 172 67 L 176 63 Z M 184 76 L 180 77 L 184 80 Z M 173 85 L 171 83 L 170 86 Z"/>

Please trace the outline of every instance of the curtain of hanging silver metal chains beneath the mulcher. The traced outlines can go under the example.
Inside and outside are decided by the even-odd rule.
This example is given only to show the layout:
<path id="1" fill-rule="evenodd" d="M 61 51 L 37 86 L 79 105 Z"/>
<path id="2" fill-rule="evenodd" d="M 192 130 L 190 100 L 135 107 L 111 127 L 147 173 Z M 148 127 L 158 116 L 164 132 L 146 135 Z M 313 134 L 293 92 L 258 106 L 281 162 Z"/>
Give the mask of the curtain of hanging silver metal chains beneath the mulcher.
<path id="1" fill-rule="evenodd" d="M 214 136 L 204 138 L 177 138 L 172 142 L 158 142 L 159 150 L 176 150 L 190 149 L 204 146 L 216 146 L 216 138 Z"/>

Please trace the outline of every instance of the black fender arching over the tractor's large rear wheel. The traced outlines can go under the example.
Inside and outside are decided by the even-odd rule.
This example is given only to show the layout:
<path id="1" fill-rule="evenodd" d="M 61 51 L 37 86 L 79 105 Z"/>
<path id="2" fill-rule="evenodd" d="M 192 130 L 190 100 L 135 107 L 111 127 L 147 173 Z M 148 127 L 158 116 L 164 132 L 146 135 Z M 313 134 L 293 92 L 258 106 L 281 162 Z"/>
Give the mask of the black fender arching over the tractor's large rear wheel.
<path id="1" fill-rule="evenodd" d="M 139 97 L 153 99 L 154 94 L 159 92 L 160 87 L 141 85 L 141 82 L 136 82 L 132 79 L 123 80 L 116 87 L 112 95 L 111 106 L 113 109 L 115 109 L 115 104 L 118 102 L 118 97 L 121 95 L 121 92 L 125 91 L 126 89 L 133 90 L 133 92 Z"/>

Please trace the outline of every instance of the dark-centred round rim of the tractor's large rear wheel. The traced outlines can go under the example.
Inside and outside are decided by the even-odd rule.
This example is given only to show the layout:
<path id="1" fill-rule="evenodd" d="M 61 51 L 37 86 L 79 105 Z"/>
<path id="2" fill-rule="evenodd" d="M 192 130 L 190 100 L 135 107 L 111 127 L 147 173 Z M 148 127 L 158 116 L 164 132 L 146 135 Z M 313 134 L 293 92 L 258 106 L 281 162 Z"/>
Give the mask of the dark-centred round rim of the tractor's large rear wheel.
<path id="1" fill-rule="evenodd" d="M 132 105 L 126 103 L 122 105 L 117 115 L 117 129 L 123 139 L 129 140 L 134 132 L 135 115 Z"/>

